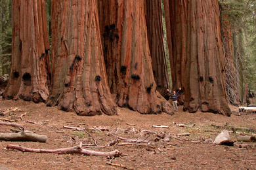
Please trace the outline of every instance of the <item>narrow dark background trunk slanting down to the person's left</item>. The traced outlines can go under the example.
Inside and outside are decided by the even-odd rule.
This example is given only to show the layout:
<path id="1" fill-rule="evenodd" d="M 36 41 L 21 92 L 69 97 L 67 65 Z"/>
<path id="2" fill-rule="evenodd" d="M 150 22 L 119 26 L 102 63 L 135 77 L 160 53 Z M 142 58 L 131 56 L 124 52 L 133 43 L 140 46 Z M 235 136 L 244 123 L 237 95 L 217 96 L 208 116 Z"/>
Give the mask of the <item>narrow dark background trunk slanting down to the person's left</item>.
<path id="1" fill-rule="evenodd" d="M 163 46 L 161 0 L 146 0 L 145 3 L 148 44 L 152 58 L 152 69 L 156 81 L 156 89 L 165 97 L 167 89 L 169 89 L 169 80 Z"/>

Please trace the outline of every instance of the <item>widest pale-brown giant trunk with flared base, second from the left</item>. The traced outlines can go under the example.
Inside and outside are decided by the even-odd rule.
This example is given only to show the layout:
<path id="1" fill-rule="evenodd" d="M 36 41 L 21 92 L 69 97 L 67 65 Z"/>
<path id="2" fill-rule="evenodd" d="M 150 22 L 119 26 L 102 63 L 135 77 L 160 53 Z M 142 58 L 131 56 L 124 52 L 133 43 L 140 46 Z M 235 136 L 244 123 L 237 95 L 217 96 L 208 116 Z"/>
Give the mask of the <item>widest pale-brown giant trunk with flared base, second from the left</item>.
<path id="1" fill-rule="evenodd" d="M 47 105 L 117 114 L 106 79 L 96 1 L 53 1 L 53 88 Z"/>

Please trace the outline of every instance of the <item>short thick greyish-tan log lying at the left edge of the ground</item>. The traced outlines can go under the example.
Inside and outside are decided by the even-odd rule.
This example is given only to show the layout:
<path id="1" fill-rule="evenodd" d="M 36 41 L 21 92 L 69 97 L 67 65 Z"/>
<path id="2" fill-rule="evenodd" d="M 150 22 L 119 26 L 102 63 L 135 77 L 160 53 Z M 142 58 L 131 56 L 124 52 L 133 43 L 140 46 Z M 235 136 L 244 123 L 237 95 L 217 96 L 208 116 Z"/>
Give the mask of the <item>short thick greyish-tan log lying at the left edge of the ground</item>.
<path id="1" fill-rule="evenodd" d="M 20 131 L 18 133 L 0 133 L 0 141 L 33 141 L 45 143 L 46 135 L 37 135 L 32 131 Z"/>

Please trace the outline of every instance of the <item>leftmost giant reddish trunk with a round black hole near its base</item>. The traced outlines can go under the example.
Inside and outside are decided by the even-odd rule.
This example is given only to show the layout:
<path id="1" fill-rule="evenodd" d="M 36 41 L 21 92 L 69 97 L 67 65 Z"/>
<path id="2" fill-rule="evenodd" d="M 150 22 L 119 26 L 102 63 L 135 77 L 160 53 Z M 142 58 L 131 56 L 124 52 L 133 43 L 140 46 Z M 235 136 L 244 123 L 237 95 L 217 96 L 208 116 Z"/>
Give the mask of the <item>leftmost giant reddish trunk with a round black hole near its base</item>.
<path id="1" fill-rule="evenodd" d="M 45 1 L 12 2 L 12 65 L 3 97 L 45 101 L 51 71 Z"/>

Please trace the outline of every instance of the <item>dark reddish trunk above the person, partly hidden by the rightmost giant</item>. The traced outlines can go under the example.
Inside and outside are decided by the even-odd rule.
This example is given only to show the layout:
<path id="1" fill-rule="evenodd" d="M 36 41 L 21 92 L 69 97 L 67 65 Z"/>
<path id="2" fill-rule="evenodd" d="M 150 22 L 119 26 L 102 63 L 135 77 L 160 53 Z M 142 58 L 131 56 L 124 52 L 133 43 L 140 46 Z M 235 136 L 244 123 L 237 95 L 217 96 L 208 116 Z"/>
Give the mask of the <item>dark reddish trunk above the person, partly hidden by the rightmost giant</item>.
<path id="1" fill-rule="evenodd" d="M 186 29 L 188 1 L 164 0 L 165 22 L 171 64 L 172 90 L 185 86 Z M 184 93 L 179 95 L 179 104 L 184 103 Z"/>

